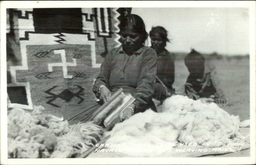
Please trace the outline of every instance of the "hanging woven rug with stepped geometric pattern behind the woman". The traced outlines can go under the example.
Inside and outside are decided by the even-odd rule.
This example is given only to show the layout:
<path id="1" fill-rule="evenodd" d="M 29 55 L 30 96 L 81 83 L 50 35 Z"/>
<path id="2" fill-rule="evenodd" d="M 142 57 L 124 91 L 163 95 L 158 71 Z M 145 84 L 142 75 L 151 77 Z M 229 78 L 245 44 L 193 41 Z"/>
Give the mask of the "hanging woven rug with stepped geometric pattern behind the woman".
<path id="1" fill-rule="evenodd" d="M 7 9 L 8 107 L 60 116 L 95 100 L 92 86 L 118 41 L 121 8 Z"/>

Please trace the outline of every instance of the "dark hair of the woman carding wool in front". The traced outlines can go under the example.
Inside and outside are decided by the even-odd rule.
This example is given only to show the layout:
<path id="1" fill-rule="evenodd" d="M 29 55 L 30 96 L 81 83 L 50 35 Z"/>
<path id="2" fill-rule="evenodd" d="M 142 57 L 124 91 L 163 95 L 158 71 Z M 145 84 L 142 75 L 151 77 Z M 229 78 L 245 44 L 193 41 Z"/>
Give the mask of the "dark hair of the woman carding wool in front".
<path id="1" fill-rule="evenodd" d="M 141 37 L 141 42 L 144 43 L 146 39 L 148 38 L 148 33 L 145 28 L 144 21 L 142 18 L 136 14 L 129 14 L 125 16 L 120 24 L 119 24 L 120 32 L 124 29 L 131 29 L 134 32 L 138 33 Z"/>

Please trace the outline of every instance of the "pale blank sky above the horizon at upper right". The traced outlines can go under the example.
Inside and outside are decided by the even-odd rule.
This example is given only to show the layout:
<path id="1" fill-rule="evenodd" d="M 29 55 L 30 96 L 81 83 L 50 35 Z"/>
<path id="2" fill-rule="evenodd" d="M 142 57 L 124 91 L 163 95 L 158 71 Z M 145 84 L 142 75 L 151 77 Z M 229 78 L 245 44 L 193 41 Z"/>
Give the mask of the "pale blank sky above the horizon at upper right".
<path id="1" fill-rule="evenodd" d="M 248 8 L 132 8 L 132 14 L 144 20 L 147 32 L 152 26 L 168 31 L 168 51 L 249 54 Z"/>

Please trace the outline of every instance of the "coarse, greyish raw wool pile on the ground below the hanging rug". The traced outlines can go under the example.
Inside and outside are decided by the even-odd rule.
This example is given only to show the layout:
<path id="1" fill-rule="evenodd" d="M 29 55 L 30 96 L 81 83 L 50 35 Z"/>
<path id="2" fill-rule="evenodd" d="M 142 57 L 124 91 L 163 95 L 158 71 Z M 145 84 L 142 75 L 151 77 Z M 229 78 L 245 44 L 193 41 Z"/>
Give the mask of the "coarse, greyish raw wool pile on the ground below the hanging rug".
<path id="1" fill-rule="evenodd" d="M 71 158 L 101 139 L 103 129 L 92 123 L 69 126 L 67 121 L 43 114 L 35 106 L 32 114 L 14 108 L 8 115 L 8 158 Z"/>

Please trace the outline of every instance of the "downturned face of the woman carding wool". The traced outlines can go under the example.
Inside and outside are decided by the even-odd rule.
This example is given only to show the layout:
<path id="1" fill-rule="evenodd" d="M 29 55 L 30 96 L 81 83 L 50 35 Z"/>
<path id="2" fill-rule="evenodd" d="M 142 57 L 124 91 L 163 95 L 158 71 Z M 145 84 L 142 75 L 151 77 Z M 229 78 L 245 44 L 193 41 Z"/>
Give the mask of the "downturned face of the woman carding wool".
<path id="1" fill-rule="evenodd" d="M 121 31 L 121 42 L 124 51 L 135 52 L 141 44 L 141 37 L 133 30 L 124 29 Z"/>

